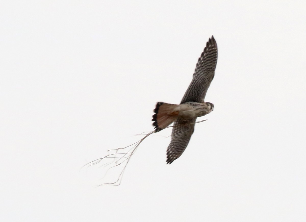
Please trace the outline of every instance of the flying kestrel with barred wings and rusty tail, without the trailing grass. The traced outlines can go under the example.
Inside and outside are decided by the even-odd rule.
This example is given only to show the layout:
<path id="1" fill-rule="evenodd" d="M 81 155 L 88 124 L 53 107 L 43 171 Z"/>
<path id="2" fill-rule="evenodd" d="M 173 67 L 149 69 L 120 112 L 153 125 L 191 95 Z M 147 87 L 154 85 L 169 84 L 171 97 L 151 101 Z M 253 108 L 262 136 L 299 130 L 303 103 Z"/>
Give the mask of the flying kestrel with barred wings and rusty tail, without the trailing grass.
<path id="1" fill-rule="evenodd" d="M 193 73 L 192 81 L 179 105 L 158 102 L 154 109 L 155 132 L 174 122 L 171 142 L 167 148 L 167 164 L 182 155 L 194 131 L 196 118 L 214 110 L 214 104 L 204 98 L 215 75 L 218 48 L 214 36 L 209 38 Z"/>

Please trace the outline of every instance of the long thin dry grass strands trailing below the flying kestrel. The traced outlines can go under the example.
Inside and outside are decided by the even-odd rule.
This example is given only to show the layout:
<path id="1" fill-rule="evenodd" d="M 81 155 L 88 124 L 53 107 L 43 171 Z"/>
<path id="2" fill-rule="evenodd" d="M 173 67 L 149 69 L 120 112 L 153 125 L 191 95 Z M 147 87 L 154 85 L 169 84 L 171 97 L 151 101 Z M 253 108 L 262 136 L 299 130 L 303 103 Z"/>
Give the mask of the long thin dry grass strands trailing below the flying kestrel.
<path id="1" fill-rule="evenodd" d="M 188 123 L 188 124 L 196 124 L 196 123 L 204 122 L 206 120 L 207 119 L 204 119 L 204 120 L 201 120 L 201 121 L 198 121 L 198 122 L 195 122 L 195 123 Z M 170 128 L 170 127 L 173 127 L 173 126 L 167 126 L 166 128 Z M 83 167 L 85 167 L 85 166 L 88 166 L 88 167 L 95 166 L 96 164 L 99 164 L 103 160 L 112 159 L 110 161 L 106 161 L 106 163 L 99 166 L 99 168 L 100 167 L 105 168 L 105 173 L 100 178 L 100 180 L 102 180 L 107 175 L 107 173 L 110 169 L 124 164 L 123 169 L 121 170 L 121 172 L 118 176 L 118 179 L 115 182 L 102 183 L 102 184 L 98 185 L 98 186 L 102 186 L 102 185 L 118 186 L 121 183 L 122 176 L 123 176 L 123 173 L 125 171 L 125 168 L 126 168 L 127 164 L 129 163 L 132 155 L 136 152 L 137 147 L 140 145 L 140 143 L 142 141 L 144 141 L 145 138 L 147 138 L 148 136 L 150 136 L 153 133 L 155 133 L 155 131 L 148 132 L 147 134 L 144 134 L 144 133 L 137 134 L 138 136 L 143 136 L 144 135 L 144 137 L 142 139 L 140 139 L 139 141 L 137 141 L 137 142 L 135 142 L 135 143 L 133 143 L 129 146 L 126 146 L 126 147 L 123 147 L 123 148 L 117 148 L 117 149 L 109 149 L 109 150 L 107 150 L 108 154 L 105 157 L 93 160 L 93 161 L 85 164 Z M 129 147 L 130 147 L 129 151 L 125 152 L 124 150 L 129 148 Z M 114 152 L 114 153 L 110 153 L 110 152 Z M 83 167 L 81 167 L 81 168 L 83 168 Z"/>

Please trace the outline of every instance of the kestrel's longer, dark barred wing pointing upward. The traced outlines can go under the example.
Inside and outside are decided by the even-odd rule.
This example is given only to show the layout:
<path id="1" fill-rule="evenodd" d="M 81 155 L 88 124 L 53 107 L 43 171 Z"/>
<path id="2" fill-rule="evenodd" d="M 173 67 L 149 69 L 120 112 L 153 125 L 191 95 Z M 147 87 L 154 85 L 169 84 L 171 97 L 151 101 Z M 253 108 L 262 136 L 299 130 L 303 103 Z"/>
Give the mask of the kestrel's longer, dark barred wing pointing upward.
<path id="1" fill-rule="evenodd" d="M 214 36 L 209 38 L 194 70 L 192 81 L 181 103 L 203 102 L 207 89 L 215 75 L 218 48 Z"/>

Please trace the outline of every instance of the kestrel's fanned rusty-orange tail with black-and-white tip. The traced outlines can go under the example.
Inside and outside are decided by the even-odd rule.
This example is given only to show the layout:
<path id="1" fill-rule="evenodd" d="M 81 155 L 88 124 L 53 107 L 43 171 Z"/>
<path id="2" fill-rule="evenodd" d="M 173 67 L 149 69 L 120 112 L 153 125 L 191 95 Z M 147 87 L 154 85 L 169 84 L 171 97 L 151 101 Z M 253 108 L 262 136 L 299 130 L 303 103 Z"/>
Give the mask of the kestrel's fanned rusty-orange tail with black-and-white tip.
<path id="1" fill-rule="evenodd" d="M 174 111 L 174 108 L 179 105 L 158 102 L 154 109 L 155 114 L 152 116 L 153 126 L 155 127 L 155 132 L 165 129 L 172 122 L 178 118 L 178 112 Z"/>

